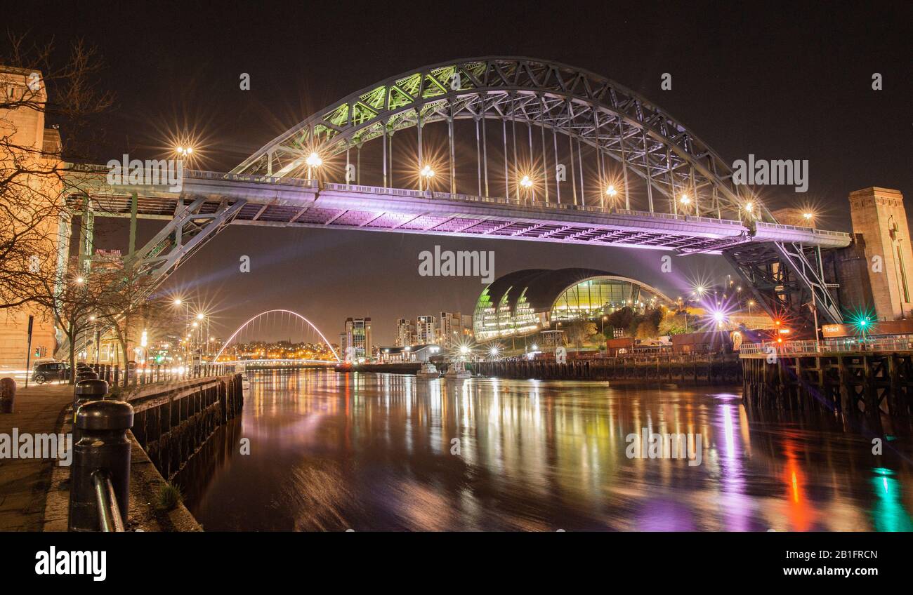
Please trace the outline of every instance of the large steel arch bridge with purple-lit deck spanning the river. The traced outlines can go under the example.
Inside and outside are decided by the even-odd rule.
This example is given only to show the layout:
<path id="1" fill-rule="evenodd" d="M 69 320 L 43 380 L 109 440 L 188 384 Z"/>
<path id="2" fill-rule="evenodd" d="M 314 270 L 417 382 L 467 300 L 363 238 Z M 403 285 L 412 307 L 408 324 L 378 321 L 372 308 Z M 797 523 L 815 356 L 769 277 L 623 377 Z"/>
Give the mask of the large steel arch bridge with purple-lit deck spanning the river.
<path id="1" fill-rule="evenodd" d="M 471 137 L 460 147 L 475 150 L 460 172 L 457 122 Z M 446 126 L 439 179 L 448 192 L 420 175 L 408 187 L 393 179 L 394 165 L 417 174 L 430 162 L 431 123 Z M 409 129 L 417 155 L 394 153 L 394 135 Z M 365 147 L 380 153 L 379 185 L 360 183 L 360 167 L 349 176 L 352 152 L 360 164 Z M 492 164 L 489 152 L 503 159 Z M 559 160 L 570 165 L 563 185 Z M 803 307 L 813 304 L 825 321 L 842 320 L 820 251 L 849 245 L 848 234 L 778 224 L 678 120 L 608 78 L 547 60 L 469 58 L 388 78 L 302 120 L 232 172 L 185 170 L 177 191 L 113 185 L 105 172 L 74 167 L 68 204 L 89 223 L 89 248 L 96 216 L 166 221 L 125 262 L 155 283 L 228 224 L 304 226 L 721 254 L 771 315 L 808 318 Z"/>

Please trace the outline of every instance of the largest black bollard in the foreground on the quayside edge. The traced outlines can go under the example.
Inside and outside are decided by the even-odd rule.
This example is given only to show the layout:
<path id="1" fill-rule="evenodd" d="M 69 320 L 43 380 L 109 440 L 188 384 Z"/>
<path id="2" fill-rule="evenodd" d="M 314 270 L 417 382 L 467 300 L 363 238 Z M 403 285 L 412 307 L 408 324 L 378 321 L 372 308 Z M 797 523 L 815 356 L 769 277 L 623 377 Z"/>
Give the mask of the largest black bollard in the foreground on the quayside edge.
<path id="1" fill-rule="evenodd" d="M 102 520 L 113 520 L 116 526 L 113 508 L 102 509 L 100 503 L 116 503 L 122 526 L 127 522 L 130 495 L 131 443 L 127 430 L 133 427 L 133 408 L 122 401 L 87 402 L 79 407 L 76 427 L 82 437 L 73 446 L 69 530 L 100 531 Z M 110 527 L 108 522 L 105 526 Z"/>

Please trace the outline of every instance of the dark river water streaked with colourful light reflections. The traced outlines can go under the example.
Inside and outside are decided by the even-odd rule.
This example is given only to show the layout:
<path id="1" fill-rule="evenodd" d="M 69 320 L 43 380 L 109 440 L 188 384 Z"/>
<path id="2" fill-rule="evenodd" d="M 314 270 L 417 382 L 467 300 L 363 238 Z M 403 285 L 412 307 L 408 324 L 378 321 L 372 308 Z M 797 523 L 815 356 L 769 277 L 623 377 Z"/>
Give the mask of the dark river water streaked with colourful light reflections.
<path id="1" fill-rule="evenodd" d="M 251 380 L 177 478 L 206 530 L 913 530 L 908 436 L 875 455 L 826 415 L 747 412 L 739 387 Z M 692 434 L 690 459 L 651 458 L 644 429 Z"/>

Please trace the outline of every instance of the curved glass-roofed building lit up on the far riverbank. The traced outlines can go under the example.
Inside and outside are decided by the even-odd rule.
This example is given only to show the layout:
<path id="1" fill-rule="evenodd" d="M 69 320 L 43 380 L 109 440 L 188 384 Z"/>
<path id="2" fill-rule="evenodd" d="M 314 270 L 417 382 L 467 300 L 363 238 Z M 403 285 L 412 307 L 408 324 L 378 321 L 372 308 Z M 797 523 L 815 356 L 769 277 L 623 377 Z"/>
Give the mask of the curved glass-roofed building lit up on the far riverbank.
<path id="1" fill-rule="evenodd" d="M 478 342 L 527 335 L 561 320 L 599 318 L 618 308 L 671 304 L 654 287 L 593 268 L 528 268 L 498 277 L 476 302 Z"/>

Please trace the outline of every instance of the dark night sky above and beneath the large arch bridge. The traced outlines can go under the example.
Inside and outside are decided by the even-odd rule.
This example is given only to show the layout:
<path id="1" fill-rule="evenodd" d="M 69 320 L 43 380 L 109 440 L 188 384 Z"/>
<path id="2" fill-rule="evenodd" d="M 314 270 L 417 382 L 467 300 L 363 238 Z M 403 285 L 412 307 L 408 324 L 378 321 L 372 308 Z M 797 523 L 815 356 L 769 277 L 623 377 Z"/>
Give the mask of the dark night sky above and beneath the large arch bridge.
<path id="1" fill-rule="evenodd" d="M 311 3 L 29 2 L 4 24 L 74 37 L 105 61 L 100 89 L 117 103 L 102 120 L 97 162 L 130 152 L 162 157 L 174 133 L 202 138 L 201 169 L 228 171 L 283 130 L 345 95 L 406 70 L 487 55 L 529 56 L 586 68 L 634 89 L 682 121 L 728 162 L 749 153 L 807 159 L 809 192 L 769 187 L 771 208 L 812 201 L 819 226 L 848 230 L 847 193 L 871 185 L 913 196 L 910 167 L 909 2 Z M 251 89 L 240 90 L 241 73 Z M 661 90 L 663 73 L 672 89 Z M 872 89 L 873 73 L 884 89 Z M 53 93 L 54 89 L 51 88 Z M 61 130 L 64 136 L 67 130 Z M 110 220 L 109 220 L 110 221 Z M 141 225 L 140 241 L 158 224 Z M 124 248 L 122 221 L 101 224 L 97 247 Z M 422 235 L 233 226 L 197 253 L 163 291 L 215 311 L 214 334 L 268 308 L 289 308 L 336 340 L 346 317 L 373 318 L 392 343 L 395 318 L 471 313 L 477 277 L 419 277 L 418 253 L 495 251 L 495 274 L 588 266 L 637 277 L 673 297 L 689 278 L 729 273 L 715 256 L 468 240 Z M 251 272 L 238 258 L 251 257 Z"/>

